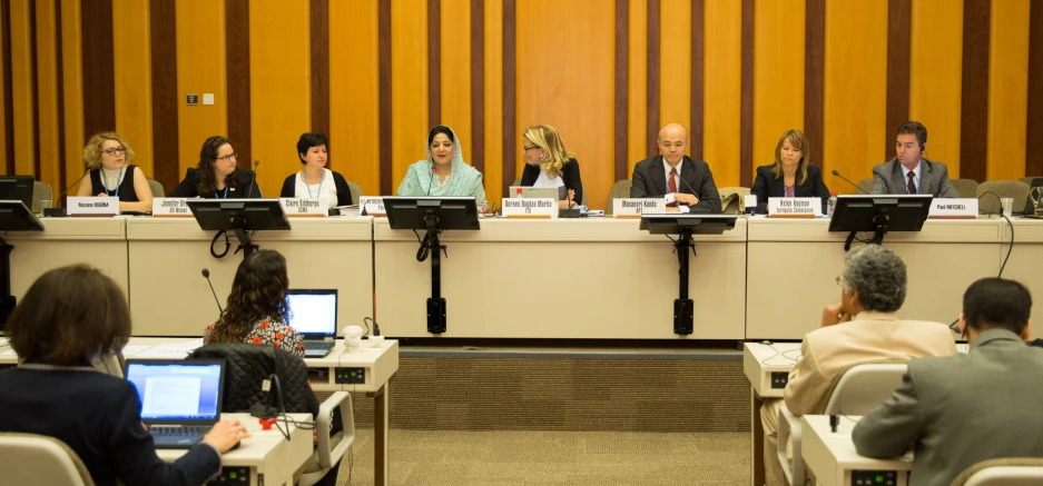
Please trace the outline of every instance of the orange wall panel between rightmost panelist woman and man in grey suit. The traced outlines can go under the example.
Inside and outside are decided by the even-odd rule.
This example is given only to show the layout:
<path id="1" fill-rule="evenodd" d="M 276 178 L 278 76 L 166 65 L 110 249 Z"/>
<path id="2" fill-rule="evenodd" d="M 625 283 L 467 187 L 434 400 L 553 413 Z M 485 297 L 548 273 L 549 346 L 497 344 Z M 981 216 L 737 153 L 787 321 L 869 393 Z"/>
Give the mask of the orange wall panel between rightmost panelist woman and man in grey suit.
<path id="1" fill-rule="evenodd" d="M 826 3 L 824 169 L 854 182 L 884 161 L 887 2 Z M 854 192 L 844 184 L 837 192 Z"/>

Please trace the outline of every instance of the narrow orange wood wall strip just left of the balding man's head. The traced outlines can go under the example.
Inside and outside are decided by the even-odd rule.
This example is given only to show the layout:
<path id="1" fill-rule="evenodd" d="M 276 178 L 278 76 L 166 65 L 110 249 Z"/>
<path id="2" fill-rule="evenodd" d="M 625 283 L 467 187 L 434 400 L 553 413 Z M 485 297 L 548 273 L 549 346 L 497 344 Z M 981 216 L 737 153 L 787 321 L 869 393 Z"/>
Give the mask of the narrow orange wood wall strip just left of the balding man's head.
<path id="1" fill-rule="evenodd" d="M 627 178 L 633 175 L 633 166 L 649 157 L 645 143 L 645 125 L 648 107 L 645 93 L 648 89 L 648 0 L 630 0 L 630 72 L 627 75 L 628 92 L 627 113 Z M 622 87 L 617 87 L 622 89 Z M 618 133 L 617 136 L 623 136 Z M 589 198 L 588 198 L 589 199 Z M 600 208 L 604 201 L 589 200 L 592 208 Z"/>

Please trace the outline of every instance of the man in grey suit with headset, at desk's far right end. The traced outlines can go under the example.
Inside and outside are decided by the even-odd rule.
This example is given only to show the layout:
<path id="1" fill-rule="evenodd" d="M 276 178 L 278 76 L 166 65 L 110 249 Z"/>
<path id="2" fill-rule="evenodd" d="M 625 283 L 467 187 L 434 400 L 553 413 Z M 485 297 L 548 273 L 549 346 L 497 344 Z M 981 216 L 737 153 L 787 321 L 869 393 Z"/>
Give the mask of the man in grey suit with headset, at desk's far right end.
<path id="1" fill-rule="evenodd" d="M 948 180 L 948 168 L 923 158 L 927 150 L 927 128 L 918 121 L 898 127 L 897 156 L 873 168 L 873 194 L 922 194 L 936 198 L 958 198 Z"/>

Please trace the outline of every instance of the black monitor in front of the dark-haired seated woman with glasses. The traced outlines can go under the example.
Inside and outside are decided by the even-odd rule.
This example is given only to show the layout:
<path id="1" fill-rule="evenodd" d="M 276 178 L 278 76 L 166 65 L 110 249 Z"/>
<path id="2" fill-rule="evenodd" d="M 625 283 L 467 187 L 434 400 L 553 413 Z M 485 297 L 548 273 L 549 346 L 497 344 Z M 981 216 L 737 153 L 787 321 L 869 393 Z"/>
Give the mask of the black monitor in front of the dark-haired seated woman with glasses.
<path id="1" fill-rule="evenodd" d="M 278 199 L 189 199 L 188 209 L 207 231 L 291 228 Z"/>

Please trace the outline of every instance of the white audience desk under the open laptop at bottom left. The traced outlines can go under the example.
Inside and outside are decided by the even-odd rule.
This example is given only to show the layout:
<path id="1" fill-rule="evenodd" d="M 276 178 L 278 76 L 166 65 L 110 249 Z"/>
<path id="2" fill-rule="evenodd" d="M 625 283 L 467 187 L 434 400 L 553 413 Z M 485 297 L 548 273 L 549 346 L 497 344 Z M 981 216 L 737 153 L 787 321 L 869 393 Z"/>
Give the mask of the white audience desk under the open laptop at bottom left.
<path id="1" fill-rule="evenodd" d="M 311 414 L 287 414 L 298 423 L 312 423 Z M 222 414 L 222 418 L 238 419 L 250 437 L 243 439 L 239 448 L 222 455 L 222 476 L 213 480 L 223 484 L 249 486 L 293 485 L 294 473 L 312 456 L 312 430 L 297 428 L 279 421 L 283 430 L 289 430 L 289 440 L 273 426 L 262 430 L 260 424 L 249 414 Z M 159 458 L 168 463 L 185 455 L 185 449 L 158 449 Z M 245 478 L 245 480 L 244 480 Z"/>

